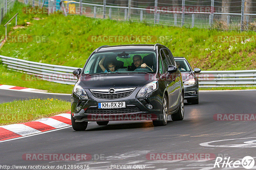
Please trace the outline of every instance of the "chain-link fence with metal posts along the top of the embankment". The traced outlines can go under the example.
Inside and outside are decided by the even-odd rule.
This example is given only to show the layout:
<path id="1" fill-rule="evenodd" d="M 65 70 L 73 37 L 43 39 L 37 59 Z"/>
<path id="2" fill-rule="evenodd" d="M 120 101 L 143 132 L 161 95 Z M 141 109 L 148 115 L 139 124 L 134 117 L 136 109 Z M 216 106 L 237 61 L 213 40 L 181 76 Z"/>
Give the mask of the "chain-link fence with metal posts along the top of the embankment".
<path id="1" fill-rule="evenodd" d="M 66 15 L 256 31 L 255 0 L 24 0 Z M 64 8 L 65 7 L 65 8 Z M 54 10 L 51 10 L 54 11 Z"/>

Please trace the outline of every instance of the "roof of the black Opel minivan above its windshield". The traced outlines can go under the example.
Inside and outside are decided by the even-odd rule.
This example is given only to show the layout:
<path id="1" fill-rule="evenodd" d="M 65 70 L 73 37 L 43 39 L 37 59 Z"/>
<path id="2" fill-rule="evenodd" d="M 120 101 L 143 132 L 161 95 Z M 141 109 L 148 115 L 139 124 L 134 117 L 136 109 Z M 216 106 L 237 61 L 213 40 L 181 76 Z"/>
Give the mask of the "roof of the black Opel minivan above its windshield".
<path id="1" fill-rule="evenodd" d="M 107 51 L 131 51 L 131 50 L 154 50 L 155 44 L 128 44 L 128 45 L 118 45 L 118 46 L 101 46 L 97 52 L 107 52 Z M 161 44 L 157 44 L 159 47 L 166 47 Z M 167 47 L 166 47 L 167 48 Z"/>

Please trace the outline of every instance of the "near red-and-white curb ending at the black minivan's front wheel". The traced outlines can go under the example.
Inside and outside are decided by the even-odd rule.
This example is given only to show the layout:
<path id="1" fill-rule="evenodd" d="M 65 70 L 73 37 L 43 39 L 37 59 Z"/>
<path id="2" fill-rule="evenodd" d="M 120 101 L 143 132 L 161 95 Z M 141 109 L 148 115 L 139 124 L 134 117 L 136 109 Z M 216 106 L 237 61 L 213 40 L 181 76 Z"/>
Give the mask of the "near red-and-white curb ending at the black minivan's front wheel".
<path id="1" fill-rule="evenodd" d="M 32 122 L 0 126 L 0 141 L 55 130 L 71 125 L 70 111 Z"/>

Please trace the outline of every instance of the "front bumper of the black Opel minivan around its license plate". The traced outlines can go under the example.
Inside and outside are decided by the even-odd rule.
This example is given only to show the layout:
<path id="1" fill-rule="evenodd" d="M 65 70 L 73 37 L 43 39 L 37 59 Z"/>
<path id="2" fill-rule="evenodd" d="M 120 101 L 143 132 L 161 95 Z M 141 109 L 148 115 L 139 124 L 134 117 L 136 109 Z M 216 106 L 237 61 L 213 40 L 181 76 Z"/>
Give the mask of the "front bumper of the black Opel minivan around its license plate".
<path id="1" fill-rule="evenodd" d="M 71 96 L 71 114 L 76 122 L 84 121 L 115 121 L 115 120 L 158 120 L 162 113 L 163 98 L 159 97 L 158 90 L 144 98 L 136 98 L 141 87 L 134 89 L 132 94 L 119 99 L 101 99 L 95 97 L 89 89 L 84 89 L 89 100 L 79 98 L 76 94 Z M 144 101 L 143 101 L 144 100 Z M 126 108 L 98 109 L 98 102 L 125 102 Z M 148 109 L 148 105 L 153 106 Z M 77 107 L 81 107 L 76 111 Z"/>

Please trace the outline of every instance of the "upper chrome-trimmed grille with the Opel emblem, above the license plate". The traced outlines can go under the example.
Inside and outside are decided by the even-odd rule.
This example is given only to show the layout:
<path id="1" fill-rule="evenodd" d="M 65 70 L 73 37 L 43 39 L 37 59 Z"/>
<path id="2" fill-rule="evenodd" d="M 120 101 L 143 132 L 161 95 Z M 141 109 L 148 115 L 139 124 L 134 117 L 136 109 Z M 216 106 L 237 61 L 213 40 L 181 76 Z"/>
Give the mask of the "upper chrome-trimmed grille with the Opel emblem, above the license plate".
<path id="1" fill-rule="evenodd" d="M 91 89 L 92 95 L 100 99 L 120 99 L 132 94 L 135 88 L 115 89 L 115 94 L 109 94 L 108 89 Z"/>

